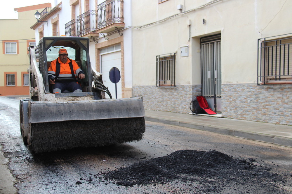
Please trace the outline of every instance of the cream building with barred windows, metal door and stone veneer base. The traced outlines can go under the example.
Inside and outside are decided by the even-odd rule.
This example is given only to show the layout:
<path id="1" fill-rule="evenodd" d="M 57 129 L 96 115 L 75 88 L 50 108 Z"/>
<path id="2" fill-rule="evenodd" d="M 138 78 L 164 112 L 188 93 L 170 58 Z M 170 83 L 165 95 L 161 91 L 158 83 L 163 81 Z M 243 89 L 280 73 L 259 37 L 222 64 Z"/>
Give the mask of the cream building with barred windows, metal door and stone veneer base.
<path id="1" fill-rule="evenodd" d="M 133 95 L 190 113 L 292 125 L 291 0 L 132 2 Z"/>

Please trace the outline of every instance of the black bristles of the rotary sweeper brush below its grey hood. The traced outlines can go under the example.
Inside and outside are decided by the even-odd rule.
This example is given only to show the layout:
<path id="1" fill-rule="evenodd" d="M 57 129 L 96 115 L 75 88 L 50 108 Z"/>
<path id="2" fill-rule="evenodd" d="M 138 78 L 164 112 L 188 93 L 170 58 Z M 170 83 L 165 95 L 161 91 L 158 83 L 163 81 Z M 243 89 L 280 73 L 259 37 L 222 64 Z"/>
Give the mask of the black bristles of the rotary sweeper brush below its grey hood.
<path id="1" fill-rule="evenodd" d="M 35 153 L 75 147 L 97 147 L 142 140 L 144 118 L 63 121 L 32 124 Z"/>

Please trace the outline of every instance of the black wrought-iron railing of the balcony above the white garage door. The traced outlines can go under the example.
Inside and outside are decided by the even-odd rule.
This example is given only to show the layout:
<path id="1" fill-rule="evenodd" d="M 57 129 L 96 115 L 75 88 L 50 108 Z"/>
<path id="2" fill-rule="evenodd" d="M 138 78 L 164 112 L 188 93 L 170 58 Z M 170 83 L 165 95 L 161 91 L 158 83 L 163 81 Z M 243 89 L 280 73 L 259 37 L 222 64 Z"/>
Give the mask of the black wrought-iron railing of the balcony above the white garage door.
<path id="1" fill-rule="evenodd" d="M 123 0 L 107 0 L 97 6 L 98 29 L 113 23 L 123 23 Z"/>

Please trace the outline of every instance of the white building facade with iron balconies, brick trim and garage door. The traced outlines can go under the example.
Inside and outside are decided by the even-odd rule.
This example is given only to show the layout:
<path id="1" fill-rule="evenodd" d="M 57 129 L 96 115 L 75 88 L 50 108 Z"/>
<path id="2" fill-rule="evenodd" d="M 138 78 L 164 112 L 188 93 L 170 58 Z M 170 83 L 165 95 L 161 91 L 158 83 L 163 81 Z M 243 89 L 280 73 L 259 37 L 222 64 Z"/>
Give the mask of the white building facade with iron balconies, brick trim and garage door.
<path id="1" fill-rule="evenodd" d="M 132 96 L 131 30 L 122 32 L 125 25 L 131 25 L 131 1 L 62 0 L 40 13 L 39 20 L 45 22 L 31 27 L 36 42 L 44 36 L 88 37 L 91 65 L 102 73 L 112 97 Z M 109 80 L 113 67 L 118 68 L 121 77 L 117 90 Z"/>

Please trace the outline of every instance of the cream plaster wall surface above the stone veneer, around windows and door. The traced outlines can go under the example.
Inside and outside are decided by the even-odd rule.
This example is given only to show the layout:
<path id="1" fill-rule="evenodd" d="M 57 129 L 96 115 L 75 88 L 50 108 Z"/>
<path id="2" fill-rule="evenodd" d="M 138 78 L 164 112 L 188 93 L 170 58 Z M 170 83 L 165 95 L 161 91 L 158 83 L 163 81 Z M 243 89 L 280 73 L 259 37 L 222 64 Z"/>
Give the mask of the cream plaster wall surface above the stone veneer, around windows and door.
<path id="1" fill-rule="evenodd" d="M 229 0 L 203 6 L 210 0 L 132 1 L 133 83 L 155 85 L 155 56 L 176 52 L 175 82 L 200 84 L 201 37 L 221 33 L 222 83 L 256 83 L 257 40 L 292 32 L 292 1 Z M 177 5 L 183 4 L 180 13 Z M 202 6 L 202 7 L 200 7 Z M 203 24 L 202 20 L 206 23 Z M 187 21 L 191 20 L 190 41 Z M 180 57 L 180 47 L 189 46 L 189 56 Z"/>

